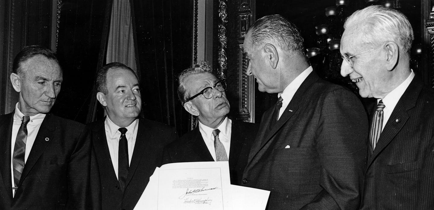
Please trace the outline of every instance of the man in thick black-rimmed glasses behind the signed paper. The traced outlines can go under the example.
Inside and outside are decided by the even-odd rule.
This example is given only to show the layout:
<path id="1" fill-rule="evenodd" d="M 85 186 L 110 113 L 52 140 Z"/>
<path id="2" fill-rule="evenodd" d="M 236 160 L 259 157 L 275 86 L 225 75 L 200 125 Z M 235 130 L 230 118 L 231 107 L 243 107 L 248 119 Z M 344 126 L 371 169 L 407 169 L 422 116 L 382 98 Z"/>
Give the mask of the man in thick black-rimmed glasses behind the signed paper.
<path id="1" fill-rule="evenodd" d="M 227 117 L 225 90 L 226 83 L 212 74 L 207 62 L 181 72 L 179 99 L 199 125 L 164 148 L 163 162 L 229 161 L 231 184 L 241 184 L 257 126 Z"/>

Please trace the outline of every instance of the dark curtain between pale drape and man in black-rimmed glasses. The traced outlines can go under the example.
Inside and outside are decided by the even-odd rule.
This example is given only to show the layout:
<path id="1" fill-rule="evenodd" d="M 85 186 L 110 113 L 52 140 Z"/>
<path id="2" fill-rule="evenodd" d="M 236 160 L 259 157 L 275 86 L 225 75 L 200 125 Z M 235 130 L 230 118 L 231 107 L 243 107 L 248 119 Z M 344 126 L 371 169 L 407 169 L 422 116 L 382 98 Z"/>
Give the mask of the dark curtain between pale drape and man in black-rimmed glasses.
<path id="1" fill-rule="evenodd" d="M 142 113 L 188 131 L 189 114 L 177 96 L 179 73 L 191 66 L 193 0 L 132 0 Z"/>

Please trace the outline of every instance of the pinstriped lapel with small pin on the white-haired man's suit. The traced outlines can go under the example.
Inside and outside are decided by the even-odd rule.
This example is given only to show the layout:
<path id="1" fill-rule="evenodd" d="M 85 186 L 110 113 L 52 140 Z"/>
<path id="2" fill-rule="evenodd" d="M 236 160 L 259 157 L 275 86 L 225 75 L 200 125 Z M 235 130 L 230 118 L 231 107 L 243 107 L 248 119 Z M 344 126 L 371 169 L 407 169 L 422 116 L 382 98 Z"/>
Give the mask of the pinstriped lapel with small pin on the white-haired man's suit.
<path id="1" fill-rule="evenodd" d="M 366 170 L 368 170 L 369 166 L 372 164 L 372 161 L 378 156 L 378 154 L 380 154 L 381 151 L 383 151 L 383 149 L 393 140 L 393 138 L 395 138 L 398 132 L 401 131 L 402 127 L 409 118 L 407 111 L 416 106 L 416 101 L 422 87 L 423 85 L 417 82 L 416 78 L 414 78 L 410 85 L 408 85 L 408 88 L 405 90 L 404 94 L 396 104 L 383 131 L 381 131 L 381 135 L 378 139 L 377 145 L 375 146 L 375 150 L 372 153 L 372 156 L 368 159 L 368 167 L 366 167 Z M 399 119 L 399 121 L 396 122 L 395 119 Z"/>

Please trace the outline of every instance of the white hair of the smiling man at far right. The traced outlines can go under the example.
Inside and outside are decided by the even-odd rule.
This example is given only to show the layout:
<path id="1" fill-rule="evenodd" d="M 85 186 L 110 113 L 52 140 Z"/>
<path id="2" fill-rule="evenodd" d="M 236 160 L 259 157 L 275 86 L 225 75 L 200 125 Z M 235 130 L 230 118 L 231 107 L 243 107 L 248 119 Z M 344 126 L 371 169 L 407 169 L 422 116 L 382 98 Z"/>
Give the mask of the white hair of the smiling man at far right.
<path id="1" fill-rule="evenodd" d="M 373 46 L 394 41 L 403 54 L 410 54 L 413 28 L 408 18 L 398 10 L 381 5 L 357 10 L 347 18 L 344 29 L 351 26 L 361 26 L 362 33 Z"/>

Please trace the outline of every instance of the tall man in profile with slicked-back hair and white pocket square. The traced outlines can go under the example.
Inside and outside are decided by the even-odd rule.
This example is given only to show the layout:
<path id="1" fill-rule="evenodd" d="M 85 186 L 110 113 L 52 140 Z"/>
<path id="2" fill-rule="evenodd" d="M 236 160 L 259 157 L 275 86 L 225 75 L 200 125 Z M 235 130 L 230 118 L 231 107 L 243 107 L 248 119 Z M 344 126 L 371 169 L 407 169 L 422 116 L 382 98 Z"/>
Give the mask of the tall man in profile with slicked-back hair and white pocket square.
<path id="1" fill-rule="evenodd" d="M 270 190 L 268 209 L 357 209 L 368 121 L 360 100 L 309 66 L 295 25 L 265 16 L 244 39 L 261 92 L 279 93 L 250 150 L 243 184 Z"/>

